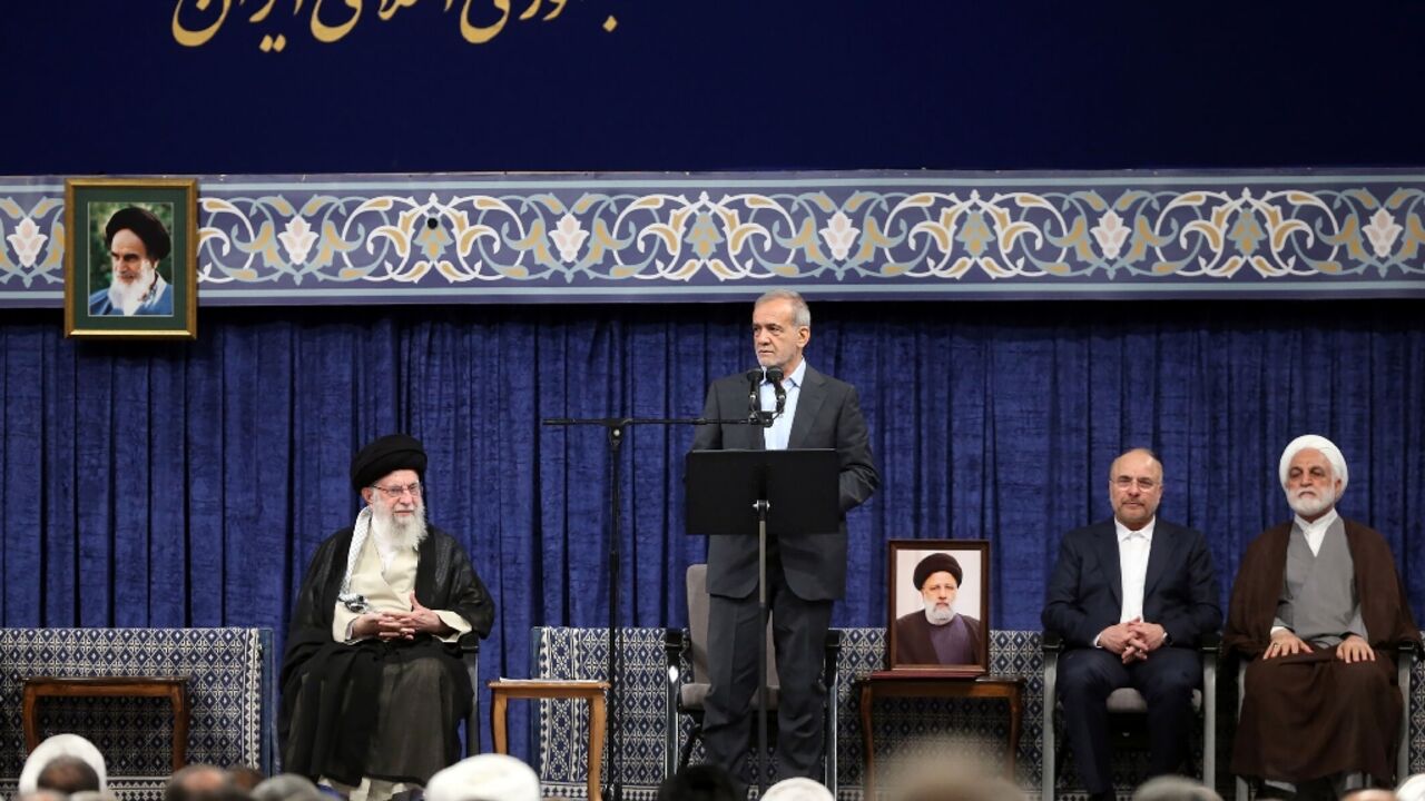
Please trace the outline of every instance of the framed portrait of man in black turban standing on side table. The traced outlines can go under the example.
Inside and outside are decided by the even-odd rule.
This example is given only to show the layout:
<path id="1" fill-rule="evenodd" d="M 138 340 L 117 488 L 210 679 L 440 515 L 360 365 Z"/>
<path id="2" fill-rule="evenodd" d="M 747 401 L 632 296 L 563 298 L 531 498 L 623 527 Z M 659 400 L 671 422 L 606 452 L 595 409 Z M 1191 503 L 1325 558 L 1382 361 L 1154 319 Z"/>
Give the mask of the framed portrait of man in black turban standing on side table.
<path id="1" fill-rule="evenodd" d="M 886 667 L 989 671 L 989 542 L 891 540 Z"/>

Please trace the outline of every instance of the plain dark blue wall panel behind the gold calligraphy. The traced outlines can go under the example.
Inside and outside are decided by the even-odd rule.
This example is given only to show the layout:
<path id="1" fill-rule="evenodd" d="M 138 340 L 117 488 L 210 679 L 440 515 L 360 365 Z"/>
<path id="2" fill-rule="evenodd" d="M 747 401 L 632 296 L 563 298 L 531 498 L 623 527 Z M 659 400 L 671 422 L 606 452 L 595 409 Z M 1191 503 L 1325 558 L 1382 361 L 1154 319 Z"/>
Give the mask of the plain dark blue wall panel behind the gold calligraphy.
<path id="1" fill-rule="evenodd" d="M 0 174 L 1425 162 L 1419 0 L 529 1 L 7 3 Z"/>

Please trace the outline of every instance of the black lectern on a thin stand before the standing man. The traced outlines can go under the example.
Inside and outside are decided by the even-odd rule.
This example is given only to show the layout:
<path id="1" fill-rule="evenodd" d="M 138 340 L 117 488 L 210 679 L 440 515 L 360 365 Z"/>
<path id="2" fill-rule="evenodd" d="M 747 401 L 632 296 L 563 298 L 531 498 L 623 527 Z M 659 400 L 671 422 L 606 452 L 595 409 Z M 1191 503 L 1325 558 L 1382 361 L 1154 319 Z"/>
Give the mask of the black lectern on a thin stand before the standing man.
<path id="1" fill-rule="evenodd" d="M 767 534 L 835 533 L 841 527 L 841 460 L 834 449 L 691 450 L 687 532 L 757 534 L 757 610 L 767 631 Z M 767 637 L 757 637 L 757 787 L 767 790 Z"/>

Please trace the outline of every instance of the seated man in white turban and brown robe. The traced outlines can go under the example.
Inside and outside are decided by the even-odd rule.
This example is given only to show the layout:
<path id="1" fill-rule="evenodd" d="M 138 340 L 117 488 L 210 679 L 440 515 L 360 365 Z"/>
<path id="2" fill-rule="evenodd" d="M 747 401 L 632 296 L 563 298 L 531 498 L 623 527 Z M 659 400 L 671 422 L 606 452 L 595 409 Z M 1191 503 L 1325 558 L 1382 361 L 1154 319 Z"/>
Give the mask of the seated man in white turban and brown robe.
<path id="1" fill-rule="evenodd" d="M 1233 772 L 1268 794 L 1389 787 L 1402 713 L 1384 648 L 1419 640 L 1405 587 L 1385 537 L 1337 513 L 1335 443 L 1297 438 L 1278 473 L 1295 516 L 1247 546 L 1223 633 L 1251 660 Z"/>

